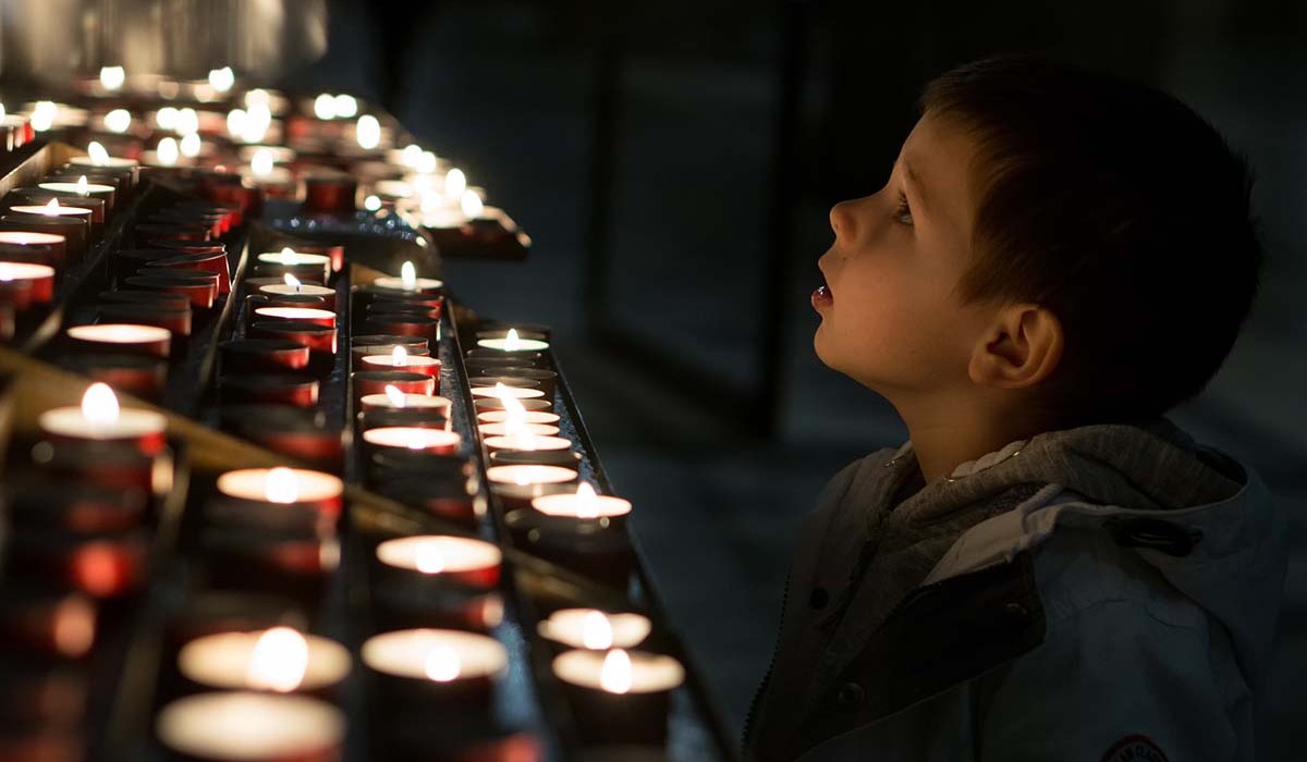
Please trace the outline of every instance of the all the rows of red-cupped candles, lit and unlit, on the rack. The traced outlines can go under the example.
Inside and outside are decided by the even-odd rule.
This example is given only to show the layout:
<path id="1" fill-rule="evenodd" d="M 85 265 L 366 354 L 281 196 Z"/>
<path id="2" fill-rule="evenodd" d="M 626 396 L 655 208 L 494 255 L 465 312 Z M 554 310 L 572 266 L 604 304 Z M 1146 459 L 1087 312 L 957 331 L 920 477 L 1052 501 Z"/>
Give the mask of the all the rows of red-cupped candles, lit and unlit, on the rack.
<path id="1" fill-rule="evenodd" d="M 246 94 L 244 118 L 272 127 L 274 122 L 263 116 L 260 93 Z M 331 101 L 333 107 L 348 111 L 348 103 Z M 278 127 L 282 135 L 315 139 L 319 148 L 327 137 L 335 137 L 335 150 L 349 154 L 352 166 L 362 166 L 362 174 L 371 178 L 374 197 L 365 201 L 366 208 L 395 208 L 420 225 L 450 226 L 463 235 L 497 235 L 497 230 L 511 227 L 481 225 L 480 220 L 499 220 L 502 213 L 486 214 L 478 207 L 480 191 L 467 187 L 461 171 L 418 146 L 391 148 L 384 154 L 382 163 L 403 171 L 369 174 L 376 169 L 366 167 L 376 158 L 365 145 L 371 140 L 365 140 L 371 133 L 370 123 L 361 119 L 353 131 L 319 131 L 323 122 L 336 119 L 336 115 L 328 119 L 324 103 L 323 98 L 314 103 L 316 123 L 288 119 Z M 193 320 L 210 318 L 213 307 L 235 291 L 244 299 L 243 320 L 238 336 L 221 352 L 223 405 L 234 403 L 234 409 L 254 403 L 264 410 L 272 409 L 268 405 L 311 409 L 318 384 L 335 367 L 337 331 L 346 328 L 340 324 L 337 289 L 332 285 L 342 264 L 342 250 L 299 246 L 260 252 L 252 257 L 244 282 L 233 284 L 222 238 L 243 217 L 257 212 L 263 196 L 277 195 L 274 183 L 260 184 L 257 179 L 268 173 L 256 170 L 269 165 L 276 169 L 278 162 L 290 165 L 295 156 L 286 146 L 264 141 L 265 145 L 246 145 L 239 150 L 251 165 L 248 171 L 214 167 L 175 173 L 171 144 L 165 142 L 169 136 L 159 137 L 158 132 L 167 131 L 167 124 L 180 127 L 180 140 L 174 142 L 182 158 L 175 163 L 191 163 L 183 158 L 208 154 L 203 140 L 213 137 L 203 135 L 201 128 L 190 129 L 191 116 L 200 124 L 216 122 L 212 112 L 200 118 L 203 108 L 193 114 L 186 108 L 169 114 L 167 108 L 148 114 L 153 132 L 137 129 L 131 103 L 103 114 L 106 127 L 108 122 L 125 124 L 115 132 L 153 136 L 154 153 L 139 154 L 144 167 L 135 159 L 111 158 L 102 146 L 91 144 L 93 156 L 76 158 L 46 179 L 73 187 L 47 188 L 42 183 L 41 190 L 51 196 L 48 201 L 34 199 L 43 203 L 39 210 L 10 210 L 10 214 L 58 220 L 55 226 L 24 221 L 24 227 L 4 230 L 7 220 L 0 220 L 0 259 L 7 260 L 0 263 L 0 284 L 30 280 L 30 293 L 35 297 L 26 302 L 21 297 L 9 298 L 0 286 L 0 306 L 22 305 L 16 307 L 22 310 L 48 303 L 60 267 L 85 256 L 103 234 L 115 203 L 122 205 L 131 197 L 139 173 L 165 182 L 184 180 L 186 187 L 199 190 L 207 201 L 156 209 L 152 218 L 136 221 L 129 240 L 137 248 L 123 248 L 110 256 L 116 288 L 99 295 L 99 322 L 67 329 L 68 344 L 74 349 L 73 363 L 77 365 L 76 358 L 118 358 L 119 365 L 90 362 L 78 370 L 157 397 L 161 391 L 157 363 L 170 357 L 176 359 L 176 348 L 184 346 Z M 59 116 L 76 120 L 74 110 L 63 106 L 42 105 L 37 111 L 42 112 L 42 120 L 48 116 L 51 124 Z M 239 123 L 239 116 L 227 116 L 229 127 Z M 345 137 L 356 139 L 362 153 L 341 150 L 340 140 Z M 223 141 L 213 139 L 212 144 L 217 148 Z M 382 148 L 380 141 L 372 148 Z M 223 175 L 239 179 L 233 183 Z M 341 180 L 332 192 L 349 195 L 353 204 L 349 180 Z M 319 210 L 324 205 L 319 204 Z M 89 214 L 64 212 L 65 208 L 89 208 Z M 81 226 L 65 224 L 65 217 L 78 221 L 85 217 L 85 235 L 78 233 Z M 176 230 L 193 229 L 197 222 L 203 222 L 203 233 L 191 230 L 183 235 Z M 7 240 L 5 235 L 13 238 Z M 20 264 L 56 272 L 42 271 L 46 280 L 26 277 L 26 272 L 14 277 Z M 169 269 L 173 272 L 161 272 Z M 352 404 L 358 416 L 359 451 L 366 456 L 369 486 L 473 528 L 484 516 L 472 495 L 476 485 L 468 481 L 471 443 L 452 430 L 450 400 L 439 396 L 442 375 L 457 379 L 437 352 L 442 348 L 442 286 L 439 281 L 417 277 L 405 265 L 396 276 L 380 278 L 352 295 L 354 324 L 348 332 Z M 630 574 L 625 536 L 630 503 L 596 495 L 579 480 L 580 456 L 572 442 L 558 435 L 559 417 L 552 412 L 555 375 L 549 370 L 546 339 L 542 333 L 485 332 L 478 335 L 478 348 L 463 359 L 476 400 L 477 439 L 484 447 L 480 455 L 489 464 L 489 486 L 506 511 L 503 519 L 514 542 L 625 586 Z M 131 363 L 122 366 L 123 357 L 144 357 L 156 365 L 149 374 L 133 374 Z M 161 468 L 169 452 L 166 420 L 149 410 L 118 409 L 116 400 L 107 401 L 112 395 L 106 391 L 102 384 L 93 386 L 82 408 L 42 416 L 46 442 L 44 450 L 38 447 L 38 451 L 52 464 L 51 473 L 73 473 L 80 486 L 162 489 L 161 484 L 167 481 L 166 468 Z M 252 429 L 259 433 L 255 439 L 274 450 L 310 461 L 325 454 L 320 459 L 324 467 L 340 465 L 339 459 L 333 460 L 340 455 L 340 437 L 331 426 L 320 427 L 314 437 L 306 438 L 302 431 L 286 437 L 272 417 L 254 422 Z M 247 427 L 240 431 L 251 434 Z M 86 447 L 95 448 L 94 457 L 85 455 Z M 112 455 L 106 457 L 106 452 Z M 237 587 L 254 580 L 251 589 L 259 589 L 260 576 L 242 574 L 240 566 L 284 562 L 286 552 L 307 532 L 312 540 L 307 566 L 324 579 L 335 567 L 332 553 L 339 552 L 341 489 L 340 480 L 325 472 L 281 468 L 221 474 L 214 482 L 214 497 L 205 501 L 200 514 L 200 545 L 209 555 L 209 566 L 239 578 L 227 580 Z M 111 511 L 105 512 L 108 515 Z M 141 515 L 150 516 L 148 511 Z M 269 519 L 274 527 L 295 529 L 269 535 Z M 251 541 L 252 537 L 257 540 Z M 97 549 L 108 552 L 91 555 L 98 559 L 91 566 L 77 567 L 82 570 L 77 572 L 80 595 L 94 600 L 137 591 L 145 579 L 142 548 L 139 536 L 131 544 L 97 544 Z M 366 673 L 388 686 L 384 690 L 393 694 L 391 698 L 421 695 L 434 702 L 430 706 L 482 707 L 507 665 L 503 647 L 488 635 L 503 610 L 497 592 L 498 549 L 455 536 L 387 538 L 375 545 L 374 565 L 374 620 L 387 629 L 369 638 L 359 651 Z M 107 574 L 108 569 L 115 574 Z M 306 566 L 291 563 L 281 571 L 286 569 L 303 571 Z M 268 576 L 261 579 L 265 582 Z M 276 586 L 273 589 L 286 592 Z M 540 634 L 558 643 L 553 673 L 569 687 L 583 735 L 608 741 L 656 742 L 665 733 L 668 691 L 680 685 L 684 673 L 674 659 L 634 650 L 650 630 L 648 620 L 639 614 L 593 609 L 557 610 L 540 622 Z M 84 654 L 94 642 L 94 633 L 85 626 L 78 630 L 61 625 L 60 631 L 64 655 L 69 657 Z M 68 633 L 81 633 L 81 639 Z M 345 731 L 336 690 L 354 672 L 352 661 L 341 644 L 310 634 L 303 623 L 203 633 L 180 644 L 175 654 L 187 690 L 159 710 L 158 740 L 174 752 L 205 759 L 280 758 L 291 753 L 335 758 Z M 468 697 L 473 697 L 471 704 Z M 388 701 L 383 698 L 382 703 Z"/>

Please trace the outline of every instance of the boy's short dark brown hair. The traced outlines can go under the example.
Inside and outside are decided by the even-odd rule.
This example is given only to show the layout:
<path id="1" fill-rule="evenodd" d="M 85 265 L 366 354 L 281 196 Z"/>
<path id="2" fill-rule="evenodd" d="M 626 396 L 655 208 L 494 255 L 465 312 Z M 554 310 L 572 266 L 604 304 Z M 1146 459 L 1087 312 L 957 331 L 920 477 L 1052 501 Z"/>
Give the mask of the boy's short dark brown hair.
<path id="1" fill-rule="evenodd" d="M 1159 90 L 1025 56 L 941 76 L 921 108 L 978 141 L 959 297 L 1063 324 L 1053 420 L 1159 416 L 1202 391 L 1261 268 L 1248 169 L 1221 135 Z"/>

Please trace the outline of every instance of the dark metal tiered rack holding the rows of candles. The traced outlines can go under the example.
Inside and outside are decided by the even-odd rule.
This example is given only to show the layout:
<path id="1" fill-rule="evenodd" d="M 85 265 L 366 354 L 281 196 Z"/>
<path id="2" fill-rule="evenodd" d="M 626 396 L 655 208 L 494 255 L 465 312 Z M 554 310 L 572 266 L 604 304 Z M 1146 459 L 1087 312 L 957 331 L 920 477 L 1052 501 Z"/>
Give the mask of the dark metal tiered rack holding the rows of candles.
<path id="1" fill-rule="evenodd" d="M 13 154 L 17 166 L 0 178 L 0 190 L 29 184 L 65 162 L 72 153 L 60 144 L 46 144 Z M 61 329 L 95 320 L 97 295 L 122 274 L 115 273 L 114 267 L 135 225 L 152 210 L 186 199 L 188 195 L 171 183 L 142 180 L 131 203 L 118 209 L 103 239 L 81 265 L 64 273 L 48 312 L 39 322 L 25 325 L 9 349 L 0 346 L 0 379 L 4 382 L 0 447 L 4 448 L 4 484 L 10 498 L 22 498 L 27 489 L 13 478 L 16 474 L 44 468 L 37 414 L 54 405 L 76 405 L 86 388 L 86 379 L 55 367 L 65 352 Z M 357 370 L 357 365 L 352 365 L 350 337 L 371 331 L 365 331 L 366 311 L 358 308 L 358 295 L 375 278 L 397 273 L 405 260 L 416 263 L 422 276 L 439 276 L 439 256 L 431 239 L 395 220 L 305 217 L 291 203 L 268 201 L 260 220 L 247 221 L 221 240 L 227 247 L 231 293 L 218 297 L 212 310 L 197 311 L 188 340 L 180 349 L 174 348 L 157 406 L 120 395 L 124 406 L 154 409 L 167 416 L 169 461 L 156 465 L 156 478 L 165 478 L 167 489 L 158 490 L 150 519 L 140 527 L 148 536 L 144 580 L 120 597 L 94 600 L 101 634 L 90 660 L 74 660 L 78 672 L 94 674 L 88 689 L 88 711 L 72 731 L 64 728 L 85 752 L 82 758 L 169 758 L 156 736 L 154 721 L 167 702 L 186 693 L 184 681 L 174 667 L 176 633 L 190 631 L 187 627 L 192 625 L 200 627 L 210 620 L 226 621 L 223 616 L 247 627 L 293 623 L 307 633 L 333 638 L 350 650 L 353 669 L 329 697 L 329 703 L 344 712 L 348 723 L 348 735 L 339 750 L 341 758 L 416 757 L 427 748 L 423 744 L 431 740 L 431 733 L 444 741 L 457 741 L 460 733 L 471 731 L 437 724 L 427 729 L 425 741 L 396 733 L 389 714 L 406 704 L 378 689 L 378 680 L 361 660 L 362 643 L 380 631 L 374 617 L 375 599 L 379 592 L 388 592 L 372 561 L 374 548 L 383 538 L 414 535 L 481 537 L 495 542 L 503 553 L 505 574 L 497 588 L 505 601 L 503 622 L 493 634 L 507 648 L 508 669 L 490 708 L 476 721 L 469 720 L 469 727 L 478 733 L 477 740 L 494 749 L 488 758 L 570 759 L 588 748 L 583 732 L 587 718 L 578 714 L 578 704 L 569 702 L 566 687 L 552 672 L 554 647 L 537 634 L 546 610 L 562 606 L 633 610 L 648 616 L 654 633 L 646 647 L 676 656 L 687 673 L 685 684 L 673 691 L 665 757 L 733 758 L 733 744 L 657 597 L 634 537 L 630 542 L 633 571 L 618 586 L 533 555 L 514 541 L 505 523 L 506 506 L 486 478 L 488 454 L 464 363 L 465 350 L 474 345 L 478 322 L 452 298 L 452 293 L 430 350 L 442 362 L 439 384 L 451 400 L 450 429 L 461 435 L 464 454 L 471 456 L 474 478 L 467 498 L 476 506 L 478 519 L 472 524 L 451 520 L 421 505 L 365 489 L 370 451 L 356 430 L 352 370 Z M 328 284 L 336 295 L 337 316 L 331 328 L 337 332 L 337 350 L 314 352 L 310 361 L 314 365 L 297 376 L 315 382 L 314 413 L 305 420 L 314 416 L 316 420 L 297 418 L 288 434 L 286 427 L 271 418 L 231 416 L 229 382 L 233 371 L 226 367 L 229 361 L 221 357 L 221 346 L 256 335 L 268 337 L 260 333 L 267 328 L 259 328 L 257 322 L 250 319 L 246 301 L 251 293 L 248 282 L 255 277 L 254 259 L 259 252 L 277 251 L 284 244 L 312 248 L 324 242 L 344 246 L 345 265 Z M 544 367 L 557 374 L 552 395 L 554 412 L 559 416 L 561 434 L 576 446 L 580 478 L 610 494 L 612 485 L 561 366 L 546 353 Z M 263 408 L 259 414 L 265 412 Z M 217 531 L 222 527 L 213 515 L 220 473 L 274 467 L 316 468 L 337 473 L 345 481 L 345 508 L 336 532 L 327 537 L 339 541 L 339 566 L 299 580 L 303 584 L 291 579 L 294 574 L 276 574 L 280 569 L 276 563 L 281 562 L 277 527 L 264 525 L 252 535 L 223 533 Z M 16 536 L 0 538 L 13 546 Z M 319 561 L 327 557 L 325 553 L 322 550 Z M 12 561 L 12 554 L 9 558 Z M 252 561 L 247 566 L 240 559 Z M 260 566 L 263 563 L 271 566 Z M 30 584 L 30 570 L 21 565 L 7 566 L 0 576 L 0 589 Z M 282 603 L 265 606 L 269 592 Z M 239 616 L 223 609 L 233 597 L 238 600 Z M 0 664 L 12 656 L 0 646 Z M 0 703 L 0 712 L 3 707 Z M 417 725 L 433 723 L 438 715 L 431 711 L 414 721 Z M 422 728 L 406 725 L 405 729 Z M 39 741 L 52 742 L 48 738 Z M 406 750 L 406 745 L 417 749 Z"/>

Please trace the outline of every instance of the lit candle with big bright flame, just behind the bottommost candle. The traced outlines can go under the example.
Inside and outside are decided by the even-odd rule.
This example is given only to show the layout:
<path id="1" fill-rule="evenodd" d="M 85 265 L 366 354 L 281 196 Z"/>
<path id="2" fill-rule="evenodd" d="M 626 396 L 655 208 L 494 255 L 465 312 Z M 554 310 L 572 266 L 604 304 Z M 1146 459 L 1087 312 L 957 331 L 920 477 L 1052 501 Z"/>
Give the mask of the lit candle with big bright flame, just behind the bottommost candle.
<path id="1" fill-rule="evenodd" d="M 349 674 L 344 646 L 290 627 L 221 633 L 191 640 L 176 657 L 188 680 L 207 687 L 314 691 Z"/>

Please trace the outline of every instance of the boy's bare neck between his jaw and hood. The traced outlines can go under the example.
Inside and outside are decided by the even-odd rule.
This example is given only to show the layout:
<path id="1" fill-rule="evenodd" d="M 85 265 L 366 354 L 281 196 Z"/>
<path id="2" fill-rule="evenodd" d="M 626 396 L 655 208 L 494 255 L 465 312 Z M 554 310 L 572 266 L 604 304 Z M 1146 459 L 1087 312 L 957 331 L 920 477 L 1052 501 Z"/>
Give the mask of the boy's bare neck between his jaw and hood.
<path id="1" fill-rule="evenodd" d="M 907 423 L 912 451 L 925 484 L 951 474 L 963 463 L 1046 430 L 1040 423 L 1012 410 L 961 405 L 936 405 L 931 409 L 897 406 Z"/>

